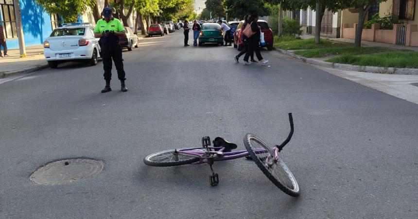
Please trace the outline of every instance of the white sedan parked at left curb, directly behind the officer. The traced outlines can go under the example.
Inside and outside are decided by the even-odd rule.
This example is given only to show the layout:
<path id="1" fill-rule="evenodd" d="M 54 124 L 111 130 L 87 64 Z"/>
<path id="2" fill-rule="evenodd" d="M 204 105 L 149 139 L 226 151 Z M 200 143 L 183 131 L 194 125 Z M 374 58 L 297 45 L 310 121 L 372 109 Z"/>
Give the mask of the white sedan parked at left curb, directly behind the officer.
<path id="1" fill-rule="evenodd" d="M 94 38 L 94 27 L 87 23 L 63 24 L 44 41 L 45 59 L 51 68 L 67 61 L 87 61 L 96 65 L 100 57 L 99 39 Z"/>

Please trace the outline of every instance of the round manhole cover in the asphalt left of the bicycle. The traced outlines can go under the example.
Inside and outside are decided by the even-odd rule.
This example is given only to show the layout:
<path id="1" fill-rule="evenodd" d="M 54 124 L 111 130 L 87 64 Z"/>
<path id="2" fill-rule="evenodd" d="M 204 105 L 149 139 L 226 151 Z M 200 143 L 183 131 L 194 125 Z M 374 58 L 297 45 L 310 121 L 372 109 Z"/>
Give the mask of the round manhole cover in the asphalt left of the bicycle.
<path id="1" fill-rule="evenodd" d="M 30 180 L 41 185 L 70 183 L 97 176 L 104 167 L 103 161 L 93 159 L 67 159 L 49 163 L 32 173 Z"/>

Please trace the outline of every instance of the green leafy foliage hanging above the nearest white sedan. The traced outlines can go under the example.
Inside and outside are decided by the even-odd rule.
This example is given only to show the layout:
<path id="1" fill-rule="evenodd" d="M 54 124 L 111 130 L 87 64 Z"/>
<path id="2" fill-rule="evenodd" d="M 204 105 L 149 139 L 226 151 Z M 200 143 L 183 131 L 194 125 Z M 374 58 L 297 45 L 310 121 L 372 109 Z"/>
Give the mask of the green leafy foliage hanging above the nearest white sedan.
<path id="1" fill-rule="evenodd" d="M 35 0 L 48 14 L 63 16 L 64 22 L 77 22 L 91 0 Z"/>

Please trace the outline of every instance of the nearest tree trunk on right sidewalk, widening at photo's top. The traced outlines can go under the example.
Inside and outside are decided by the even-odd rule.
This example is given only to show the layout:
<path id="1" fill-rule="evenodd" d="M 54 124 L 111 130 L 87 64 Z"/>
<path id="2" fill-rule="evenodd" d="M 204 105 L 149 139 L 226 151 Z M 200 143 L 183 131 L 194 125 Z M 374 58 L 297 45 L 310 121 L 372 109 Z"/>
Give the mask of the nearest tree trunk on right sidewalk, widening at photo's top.
<path id="1" fill-rule="evenodd" d="M 376 3 L 384 1 L 386 0 L 347 0 L 345 2 L 346 7 L 355 8 L 359 11 L 359 20 L 357 22 L 356 37 L 354 40 L 355 47 L 361 47 L 363 27 L 368 10 Z"/>

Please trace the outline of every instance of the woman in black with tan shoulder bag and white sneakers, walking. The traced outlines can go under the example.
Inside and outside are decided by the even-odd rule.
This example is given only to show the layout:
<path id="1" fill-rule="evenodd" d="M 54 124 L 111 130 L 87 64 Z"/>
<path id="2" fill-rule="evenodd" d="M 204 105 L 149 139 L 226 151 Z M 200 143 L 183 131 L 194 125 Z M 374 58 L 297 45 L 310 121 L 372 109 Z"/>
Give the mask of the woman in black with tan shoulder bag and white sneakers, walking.
<path id="1" fill-rule="evenodd" d="M 268 63 L 268 60 L 263 60 L 261 53 L 260 53 L 260 27 L 257 24 L 257 21 L 259 20 L 259 15 L 257 13 L 254 13 L 251 15 L 251 19 L 248 20 L 248 23 L 251 25 L 251 30 L 255 32 L 251 37 L 248 39 L 249 44 L 249 50 L 245 54 L 244 57 L 244 64 L 248 65 L 251 64 L 248 62 L 248 58 L 250 57 L 250 54 L 255 52 L 257 59 L 259 60 L 259 63 L 265 64 Z"/>

